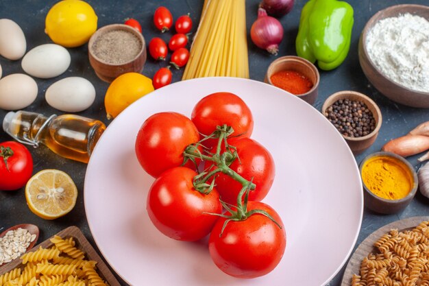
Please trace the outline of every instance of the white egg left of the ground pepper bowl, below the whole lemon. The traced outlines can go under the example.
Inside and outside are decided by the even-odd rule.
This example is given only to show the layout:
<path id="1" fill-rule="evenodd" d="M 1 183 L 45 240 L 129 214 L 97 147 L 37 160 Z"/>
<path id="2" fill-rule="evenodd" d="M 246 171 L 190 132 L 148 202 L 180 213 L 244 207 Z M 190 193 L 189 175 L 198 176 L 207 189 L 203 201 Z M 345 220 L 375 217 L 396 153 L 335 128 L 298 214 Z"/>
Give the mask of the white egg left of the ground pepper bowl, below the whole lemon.
<path id="1" fill-rule="evenodd" d="M 34 47 L 23 58 L 21 67 L 36 78 L 55 78 L 69 69 L 70 53 L 56 44 Z"/>

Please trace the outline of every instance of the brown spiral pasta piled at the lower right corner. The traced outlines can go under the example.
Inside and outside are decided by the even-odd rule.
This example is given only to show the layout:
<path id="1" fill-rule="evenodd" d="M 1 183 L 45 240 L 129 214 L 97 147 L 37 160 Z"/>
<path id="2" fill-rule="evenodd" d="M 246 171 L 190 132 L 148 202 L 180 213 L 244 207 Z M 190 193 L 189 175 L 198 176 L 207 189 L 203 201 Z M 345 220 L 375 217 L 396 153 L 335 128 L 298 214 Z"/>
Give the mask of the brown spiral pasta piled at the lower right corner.
<path id="1" fill-rule="evenodd" d="M 392 229 L 373 244 L 352 286 L 429 286 L 429 221 L 413 230 Z"/>

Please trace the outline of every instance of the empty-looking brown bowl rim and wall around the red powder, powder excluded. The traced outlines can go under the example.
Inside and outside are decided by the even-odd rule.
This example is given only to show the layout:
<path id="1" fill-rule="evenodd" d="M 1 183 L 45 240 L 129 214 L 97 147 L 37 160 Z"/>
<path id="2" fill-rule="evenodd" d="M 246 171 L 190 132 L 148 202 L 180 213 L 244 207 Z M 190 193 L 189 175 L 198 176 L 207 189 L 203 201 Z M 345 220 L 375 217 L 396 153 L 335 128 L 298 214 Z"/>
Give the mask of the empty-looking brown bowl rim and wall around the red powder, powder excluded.
<path id="1" fill-rule="evenodd" d="M 269 65 L 267 73 L 265 74 L 265 82 L 267 84 L 274 85 L 271 82 L 271 75 L 278 71 L 292 70 L 302 73 L 312 82 L 312 88 L 307 93 L 296 95 L 300 99 L 303 99 L 309 104 L 314 104 L 317 99 L 317 91 L 319 88 L 320 75 L 317 67 L 306 60 L 298 56 L 283 56 L 280 57 Z"/>

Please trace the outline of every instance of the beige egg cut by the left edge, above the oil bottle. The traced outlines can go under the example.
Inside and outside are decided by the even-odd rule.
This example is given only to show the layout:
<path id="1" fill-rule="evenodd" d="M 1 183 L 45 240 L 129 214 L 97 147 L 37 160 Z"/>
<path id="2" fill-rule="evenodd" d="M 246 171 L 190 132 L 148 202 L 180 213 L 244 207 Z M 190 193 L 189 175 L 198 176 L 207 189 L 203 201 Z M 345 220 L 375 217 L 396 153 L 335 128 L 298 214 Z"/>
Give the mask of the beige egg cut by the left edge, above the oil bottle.
<path id="1" fill-rule="evenodd" d="M 0 80 L 0 108 L 18 110 L 29 106 L 37 97 L 38 88 L 33 78 L 23 73 L 6 75 Z"/>

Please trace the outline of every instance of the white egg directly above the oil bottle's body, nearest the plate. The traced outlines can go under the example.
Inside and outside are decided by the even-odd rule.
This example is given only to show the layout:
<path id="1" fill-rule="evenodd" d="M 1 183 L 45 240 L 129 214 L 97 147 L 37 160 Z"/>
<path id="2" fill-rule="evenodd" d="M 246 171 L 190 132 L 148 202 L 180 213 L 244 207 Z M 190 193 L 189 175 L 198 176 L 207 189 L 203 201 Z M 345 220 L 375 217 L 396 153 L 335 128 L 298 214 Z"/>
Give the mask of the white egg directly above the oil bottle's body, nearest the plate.
<path id="1" fill-rule="evenodd" d="M 58 110 L 79 112 L 93 104 L 95 88 L 85 78 L 63 78 L 49 86 L 45 99 L 50 106 Z"/>

